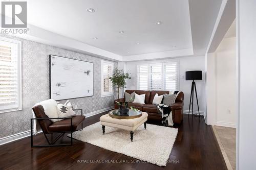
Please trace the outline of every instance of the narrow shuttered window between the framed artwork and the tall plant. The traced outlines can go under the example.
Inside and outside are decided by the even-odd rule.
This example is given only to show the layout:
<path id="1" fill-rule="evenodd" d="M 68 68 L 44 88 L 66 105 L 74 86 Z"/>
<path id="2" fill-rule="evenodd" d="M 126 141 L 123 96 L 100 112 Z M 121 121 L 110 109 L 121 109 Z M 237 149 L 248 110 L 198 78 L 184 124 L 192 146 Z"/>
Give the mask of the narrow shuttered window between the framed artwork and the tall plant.
<path id="1" fill-rule="evenodd" d="M 114 64 L 108 61 L 101 61 L 101 96 L 113 95 L 113 86 L 110 77 L 113 76 Z"/>

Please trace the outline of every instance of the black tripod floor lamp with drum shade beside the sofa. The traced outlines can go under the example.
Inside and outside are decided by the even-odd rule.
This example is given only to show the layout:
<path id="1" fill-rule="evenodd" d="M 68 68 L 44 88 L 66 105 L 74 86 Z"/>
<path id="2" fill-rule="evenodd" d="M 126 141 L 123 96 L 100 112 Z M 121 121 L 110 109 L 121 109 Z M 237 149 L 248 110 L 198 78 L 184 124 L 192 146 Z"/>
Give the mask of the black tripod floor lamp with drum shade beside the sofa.
<path id="1" fill-rule="evenodd" d="M 197 87 L 195 80 L 202 80 L 202 71 L 196 70 L 196 71 L 186 71 L 186 80 L 193 80 L 191 84 L 191 92 L 190 92 L 190 101 L 189 101 L 189 109 L 188 109 L 188 115 L 190 112 L 190 106 L 192 104 L 192 115 L 193 115 L 193 104 L 194 104 L 194 91 L 196 92 L 196 98 L 197 98 Z M 192 97 L 192 103 L 191 103 L 191 97 Z M 199 105 L 198 105 L 198 99 L 197 99 L 197 108 L 198 108 L 198 114 L 200 116 L 199 112 Z"/>

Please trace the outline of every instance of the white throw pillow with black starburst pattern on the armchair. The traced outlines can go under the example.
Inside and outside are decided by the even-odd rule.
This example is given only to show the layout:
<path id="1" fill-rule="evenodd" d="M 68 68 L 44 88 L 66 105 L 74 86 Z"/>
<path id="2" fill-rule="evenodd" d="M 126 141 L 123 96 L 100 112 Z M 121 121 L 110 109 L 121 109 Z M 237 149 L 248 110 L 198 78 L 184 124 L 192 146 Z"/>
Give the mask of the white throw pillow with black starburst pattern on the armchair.
<path id="1" fill-rule="evenodd" d="M 57 110 L 59 118 L 70 117 L 76 114 L 69 100 L 64 105 L 57 102 Z"/>

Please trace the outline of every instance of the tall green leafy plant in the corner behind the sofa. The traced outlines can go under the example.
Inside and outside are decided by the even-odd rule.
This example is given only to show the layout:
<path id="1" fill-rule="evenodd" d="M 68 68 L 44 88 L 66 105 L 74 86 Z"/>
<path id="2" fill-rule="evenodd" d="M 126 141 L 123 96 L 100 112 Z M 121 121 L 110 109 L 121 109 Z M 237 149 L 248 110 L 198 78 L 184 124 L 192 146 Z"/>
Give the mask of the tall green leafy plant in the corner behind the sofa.
<path id="1" fill-rule="evenodd" d="M 110 77 L 110 81 L 113 86 L 117 88 L 118 99 L 119 99 L 119 91 L 121 88 L 126 87 L 126 79 L 131 79 L 130 73 L 124 73 L 122 69 L 118 69 L 117 67 L 114 70 L 113 77 Z"/>

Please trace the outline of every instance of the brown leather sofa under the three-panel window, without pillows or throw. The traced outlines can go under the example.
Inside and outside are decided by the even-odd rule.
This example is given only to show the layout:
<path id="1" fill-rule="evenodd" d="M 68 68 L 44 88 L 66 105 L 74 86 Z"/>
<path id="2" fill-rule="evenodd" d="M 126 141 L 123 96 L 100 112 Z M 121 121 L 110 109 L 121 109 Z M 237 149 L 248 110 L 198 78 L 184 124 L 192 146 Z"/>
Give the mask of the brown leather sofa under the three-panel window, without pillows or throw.
<path id="1" fill-rule="evenodd" d="M 131 94 L 135 91 L 137 94 L 145 94 L 145 104 L 139 104 L 139 103 L 132 103 L 129 102 L 129 106 L 133 106 L 134 108 L 141 110 L 143 112 L 147 112 L 148 114 L 148 120 L 161 120 L 161 115 L 158 113 L 156 105 L 152 104 L 153 99 L 156 93 L 158 95 L 162 95 L 164 93 L 169 94 L 169 91 L 160 91 L 160 90 L 153 90 L 153 91 L 145 91 L 145 90 L 125 90 L 125 92 Z M 181 91 L 176 100 L 175 103 L 170 106 L 170 109 L 172 110 L 173 114 L 173 122 L 175 124 L 180 124 L 182 122 L 183 118 L 183 99 L 184 99 L 184 93 Z M 124 98 L 115 100 L 115 109 L 118 108 L 118 105 L 116 104 L 116 101 L 118 102 L 125 102 L 125 96 Z"/>

